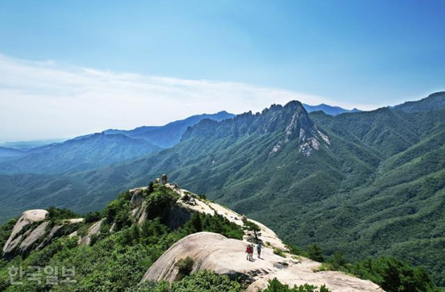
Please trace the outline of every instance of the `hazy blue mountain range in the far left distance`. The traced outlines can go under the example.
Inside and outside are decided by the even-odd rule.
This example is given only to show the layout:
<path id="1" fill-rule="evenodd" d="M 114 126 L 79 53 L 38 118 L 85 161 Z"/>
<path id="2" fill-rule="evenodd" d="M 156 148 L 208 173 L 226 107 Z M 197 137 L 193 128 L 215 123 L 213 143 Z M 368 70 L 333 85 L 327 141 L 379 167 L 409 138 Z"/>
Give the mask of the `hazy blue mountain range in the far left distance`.
<path id="1" fill-rule="evenodd" d="M 79 136 L 63 143 L 36 147 L 31 142 L 7 143 L 19 149 L 0 147 L 0 173 L 52 174 L 81 171 L 120 163 L 179 143 L 182 133 L 203 119 L 224 120 L 234 115 L 221 111 L 215 114 L 193 115 L 185 120 L 161 127 L 139 127 L 133 130 L 106 130 Z"/>

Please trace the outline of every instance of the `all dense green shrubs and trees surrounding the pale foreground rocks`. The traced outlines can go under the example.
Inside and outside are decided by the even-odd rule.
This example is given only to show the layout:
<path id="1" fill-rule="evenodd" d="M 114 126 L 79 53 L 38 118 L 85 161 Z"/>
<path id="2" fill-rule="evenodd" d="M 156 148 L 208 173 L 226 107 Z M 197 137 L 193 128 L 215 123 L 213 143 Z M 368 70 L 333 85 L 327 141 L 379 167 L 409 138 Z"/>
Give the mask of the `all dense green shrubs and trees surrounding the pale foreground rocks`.
<path id="1" fill-rule="evenodd" d="M 172 202 L 177 200 L 177 193 L 159 184 L 150 184 L 143 192 L 147 209 L 155 211 L 156 217 L 145 220 L 137 225 L 130 216 L 129 202 L 131 193 L 124 192 L 117 199 L 110 202 L 102 212 L 88 213 L 88 220 L 76 226 L 78 234 L 86 234 L 92 222 L 104 218 L 99 235 L 92 236 L 90 245 L 78 245 L 77 238 L 62 236 L 47 245 L 42 250 L 33 251 L 24 256 L 17 256 L 10 261 L 0 261 L 0 289 L 6 291 L 242 291 L 245 283 L 239 279 L 229 279 L 224 275 L 217 275 L 210 271 L 201 271 L 191 275 L 193 259 L 186 257 L 179 260 L 176 266 L 179 270 L 177 281 L 146 282 L 139 284 L 147 268 L 158 259 L 165 250 L 179 239 L 195 232 L 207 231 L 223 234 L 229 238 L 243 238 L 243 229 L 257 230 L 255 224 L 248 224 L 242 228 L 225 217 L 216 213 L 210 216 L 204 213 L 193 213 L 191 219 L 178 229 L 170 229 L 164 224 L 167 210 L 172 209 Z M 66 216 L 66 217 L 65 217 Z M 46 220 L 63 222 L 65 218 L 75 217 L 76 214 L 67 209 L 51 207 Z M 152 216 L 153 217 L 153 216 Z M 16 220 L 10 220 L 1 225 L 1 241 L 4 243 L 10 234 Z M 68 225 L 70 226 L 70 225 Z M 113 228 L 112 228 L 113 226 Z M 71 233 L 70 230 L 68 233 Z M 67 234 L 65 232 L 65 234 Z M 308 245 L 305 250 L 289 244 L 293 254 L 304 255 L 316 261 L 323 261 L 323 251 L 318 245 Z M 282 250 L 273 251 L 282 257 Z M 47 284 L 45 275 L 40 275 L 40 284 L 29 278 L 22 279 L 22 285 L 11 285 L 8 268 L 22 266 L 26 271 L 32 266 L 57 266 L 75 268 L 75 283 Z M 386 291 L 437 291 L 432 279 L 423 268 L 412 268 L 410 264 L 394 258 L 364 259 L 356 263 L 349 263 L 341 252 L 335 252 L 327 259 L 321 270 L 342 270 L 380 284 Z M 62 273 L 58 270 L 59 277 Z M 17 279 L 17 277 L 15 278 Z M 19 279 L 17 279 L 19 280 Z M 277 279 L 270 280 L 265 291 L 328 291 L 325 286 L 305 284 L 289 287 Z"/>

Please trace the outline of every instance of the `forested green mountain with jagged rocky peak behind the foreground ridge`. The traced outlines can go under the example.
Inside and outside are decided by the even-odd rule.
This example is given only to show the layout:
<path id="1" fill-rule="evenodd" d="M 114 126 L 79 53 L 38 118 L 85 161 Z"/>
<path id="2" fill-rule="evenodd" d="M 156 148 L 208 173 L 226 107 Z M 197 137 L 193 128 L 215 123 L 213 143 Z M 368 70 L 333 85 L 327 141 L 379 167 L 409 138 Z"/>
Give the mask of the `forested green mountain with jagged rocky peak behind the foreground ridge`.
<path id="1" fill-rule="evenodd" d="M 168 173 L 286 241 L 355 259 L 391 254 L 428 268 L 444 286 L 445 259 L 437 257 L 445 244 L 444 100 L 437 92 L 341 115 L 307 113 L 289 102 L 220 122 L 202 119 L 177 145 L 123 163 L 0 175 L 1 216 L 51 205 L 100 209 L 118 191 Z"/>

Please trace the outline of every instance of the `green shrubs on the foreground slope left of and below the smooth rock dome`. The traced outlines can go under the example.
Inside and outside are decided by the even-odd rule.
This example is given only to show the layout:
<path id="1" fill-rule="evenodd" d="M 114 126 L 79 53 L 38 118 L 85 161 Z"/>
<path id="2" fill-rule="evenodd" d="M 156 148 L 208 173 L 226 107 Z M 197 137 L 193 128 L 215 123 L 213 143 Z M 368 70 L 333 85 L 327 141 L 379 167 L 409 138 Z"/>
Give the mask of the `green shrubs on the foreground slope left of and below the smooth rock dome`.
<path id="1" fill-rule="evenodd" d="M 175 193 L 169 188 L 156 186 L 152 193 L 147 192 L 144 195 L 148 206 L 153 204 L 159 208 L 168 209 L 170 203 L 165 202 L 170 202 L 174 197 L 173 194 Z M 165 200 L 160 200 L 161 196 L 165 197 Z M 177 195 L 175 194 L 175 196 Z M 149 266 L 173 243 L 188 234 L 207 231 L 219 232 L 230 238 L 242 238 L 243 229 L 219 215 L 210 216 L 195 213 L 183 227 L 169 229 L 167 225 L 162 223 L 164 212 L 159 212 L 159 216 L 152 220 L 146 220 L 139 227 L 129 216 L 130 198 L 129 192 L 122 193 L 117 200 L 108 204 L 106 209 L 99 213 L 104 215 L 106 220 L 102 223 L 100 235 L 92 238 L 90 246 L 79 246 L 77 245 L 77 238 L 64 236 L 56 239 L 42 250 L 31 252 L 27 257 L 17 256 L 10 261 L 0 261 L 0 290 L 124 291 L 129 287 L 136 289 L 138 282 Z M 63 214 L 72 216 L 70 211 L 55 208 L 51 208 L 50 214 L 48 220 L 49 218 L 59 220 L 63 217 Z M 97 218 L 98 213 L 92 213 L 89 216 L 90 218 Z M 1 225 L 0 239 L 2 242 L 6 241 L 14 224 L 15 221 L 11 220 Z M 110 231 L 113 224 L 115 232 Z M 80 232 L 82 229 L 85 231 L 90 223 L 85 222 L 84 225 L 79 229 Z M 203 272 L 187 277 L 191 271 L 191 265 L 193 265 L 191 259 L 184 259 L 179 265 L 181 277 L 184 277 L 184 279 L 175 283 L 175 289 L 179 290 L 174 291 L 191 291 L 191 287 L 202 285 L 203 279 L 206 279 L 207 284 L 212 286 L 232 287 L 233 290 L 231 291 L 240 291 L 241 284 L 214 273 Z M 37 284 L 35 281 L 24 277 L 22 285 L 10 285 L 8 268 L 19 266 L 22 266 L 24 271 L 31 266 L 58 266 L 60 269 L 61 267 L 74 267 L 75 277 L 72 279 L 76 280 L 76 283 L 46 284 L 45 275 L 42 273 L 40 275 L 42 284 Z M 60 273 L 62 271 L 58 270 L 59 277 L 61 277 Z M 147 285 L 149 286 L 149 284 Z"/>

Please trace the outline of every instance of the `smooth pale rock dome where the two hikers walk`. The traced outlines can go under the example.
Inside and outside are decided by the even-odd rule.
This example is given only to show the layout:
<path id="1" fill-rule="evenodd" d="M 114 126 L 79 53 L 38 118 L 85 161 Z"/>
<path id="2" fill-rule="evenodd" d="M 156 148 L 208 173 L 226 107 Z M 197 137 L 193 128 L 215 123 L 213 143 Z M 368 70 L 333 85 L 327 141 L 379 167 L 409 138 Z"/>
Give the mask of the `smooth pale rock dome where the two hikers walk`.
<path id="1" fill-rule="evenodd" d="M 191 273 L 213 270 L 223 275 L 243 275 L 248 279 L 247 291 L 266 289 L 268 279 L 277 277 L 291 286 L 297 284 L 325 284 L 331 291 L 383 291 L 370 281 L 351 277 L 340 272 L 313 271 L 320 263 L 309 259 L 295 259 L 291 255 L 280 257 L 270 248 L 264 248 L 261 259 L 246 260 L 245 241 L 226 238 L 221 234 L 199 232 L 182 238 L 172 245 L 145 273 L 142 281 L 174 281 L 178 276 L 177 261 L 191 257 Z"/>

